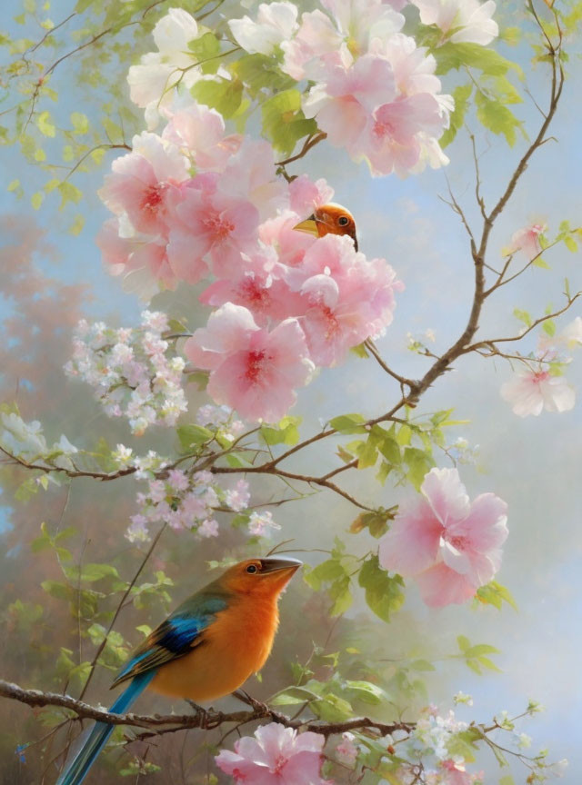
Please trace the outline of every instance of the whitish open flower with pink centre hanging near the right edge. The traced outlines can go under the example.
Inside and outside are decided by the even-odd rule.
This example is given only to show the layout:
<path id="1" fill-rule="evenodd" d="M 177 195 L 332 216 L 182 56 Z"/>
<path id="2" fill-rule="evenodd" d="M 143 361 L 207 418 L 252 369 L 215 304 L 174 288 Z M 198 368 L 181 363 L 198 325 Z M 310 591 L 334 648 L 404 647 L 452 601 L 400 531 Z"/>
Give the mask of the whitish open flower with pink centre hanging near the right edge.
<path id="1" fill-rule="evenodd" d="M 537 417 L 543 409 L 568 412 L 576 402 L 576 392 L 564 376 L 551 376 L 548 371 L 536 371 L 525 364 L 501 385 L 501 397 L 511 403 L 519 417 Z"/>

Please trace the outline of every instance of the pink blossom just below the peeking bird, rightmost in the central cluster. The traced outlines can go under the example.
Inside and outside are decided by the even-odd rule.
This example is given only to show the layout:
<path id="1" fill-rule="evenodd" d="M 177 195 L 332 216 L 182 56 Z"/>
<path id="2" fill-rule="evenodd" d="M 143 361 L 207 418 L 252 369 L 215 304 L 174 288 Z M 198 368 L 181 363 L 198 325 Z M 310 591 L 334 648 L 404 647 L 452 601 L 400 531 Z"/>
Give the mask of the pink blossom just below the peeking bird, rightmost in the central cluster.
<path id="1" fill-rule="evenodd" d="M 327 234 L 307 251 L 301 270 L 305 300 L 300 322 L 317 365 L 334 365 L 352 346 L 377 337 L 392 322 L 402 288 L 383 259 L 366 260 L 349 237 Z"/>

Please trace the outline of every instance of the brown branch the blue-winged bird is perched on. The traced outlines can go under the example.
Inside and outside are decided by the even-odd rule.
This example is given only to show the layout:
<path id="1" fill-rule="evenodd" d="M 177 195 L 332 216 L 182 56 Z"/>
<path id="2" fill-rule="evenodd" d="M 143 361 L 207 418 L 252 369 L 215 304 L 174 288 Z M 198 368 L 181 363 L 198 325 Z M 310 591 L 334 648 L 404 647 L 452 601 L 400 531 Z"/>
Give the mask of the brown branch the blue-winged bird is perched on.
<path id="1" fill-rule="evenodd" d="M 280 722 L 287 728 L 297 730 L 312 730 L 324 736 L 344 733 L 346 730 L 376 730 L 381 736 L 386 736 L 401 730 L 410 733 L 415 728 L 414 722 L 379 722 L 368 717 L 357 717 L 343 722 L 321 722 L 318 720 L 291 720 L 285 714 L 270 709 L 266 704 L 250 699 L 252 710 L 243 711 L 197 711 L 194 714 L 113 714 L 105 709 L 91 706 L 84 701 L 76 701 L 70 695 L 59 695 L 55 692 L 40 690 L 25 690 L 18 684 L 0 680 L 0 696 L 11 701 L 19 701 L 32 707 L 57 706 L 61 709 L 73 711 L 79 719 L 97 720 L 110 725 L 130 725 L 137 728 L 162 729 L 170 726 L 172 730 L 186 730 L 200 728 L 212 730 L 226 722 L 243 724 L 256 720 L 272 720 Z"/>

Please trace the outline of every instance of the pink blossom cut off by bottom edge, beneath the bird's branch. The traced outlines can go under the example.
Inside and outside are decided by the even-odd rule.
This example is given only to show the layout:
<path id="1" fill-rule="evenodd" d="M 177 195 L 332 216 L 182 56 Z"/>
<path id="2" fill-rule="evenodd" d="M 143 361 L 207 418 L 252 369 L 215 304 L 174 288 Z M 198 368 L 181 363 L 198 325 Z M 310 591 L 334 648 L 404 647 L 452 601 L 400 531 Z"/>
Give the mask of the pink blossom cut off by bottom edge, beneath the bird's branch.
<path id="1" fill-rule="evenodd" d="M 221 750 L 215 760 L 235 782 L 247 785 L 324 785 L 319 771 L 325 743 L 320 733 L 297 734 L 270 722 L 256 729 L 255 738 L 236 740 L 234 752 Z"/>

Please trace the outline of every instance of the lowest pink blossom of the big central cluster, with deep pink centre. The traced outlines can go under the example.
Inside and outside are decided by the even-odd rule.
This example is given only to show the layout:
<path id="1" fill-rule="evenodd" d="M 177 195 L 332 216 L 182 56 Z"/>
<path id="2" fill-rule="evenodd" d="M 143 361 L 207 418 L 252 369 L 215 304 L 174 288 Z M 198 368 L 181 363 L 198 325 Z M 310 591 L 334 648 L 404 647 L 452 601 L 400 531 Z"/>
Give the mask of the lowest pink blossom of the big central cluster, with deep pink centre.
<path id="1" fill-rule="evenodd" d="M 257 327 L 252 313 L 226 303 L 186 342 L 185 353 L 210 371 L 207 391 L 241 416 L 276 422 L 296 401 L 296 387 L 313 371 L 304 333 L 296 319 L 272 332 Z"/>

